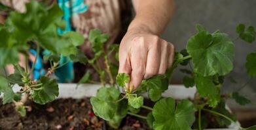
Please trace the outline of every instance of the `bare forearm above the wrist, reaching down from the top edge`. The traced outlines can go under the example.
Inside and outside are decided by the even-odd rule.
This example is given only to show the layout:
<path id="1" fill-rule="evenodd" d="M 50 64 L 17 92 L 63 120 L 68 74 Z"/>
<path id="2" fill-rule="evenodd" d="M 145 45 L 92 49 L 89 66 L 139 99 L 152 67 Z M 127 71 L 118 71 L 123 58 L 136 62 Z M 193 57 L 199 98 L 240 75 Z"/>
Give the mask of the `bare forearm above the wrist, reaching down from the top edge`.
<path id="1" fill-rule="evenodd" d="M 159 36 L 174 12 L 173 0 L 133 0 L 136 17 L 128 31 L 146 31 Z"/>

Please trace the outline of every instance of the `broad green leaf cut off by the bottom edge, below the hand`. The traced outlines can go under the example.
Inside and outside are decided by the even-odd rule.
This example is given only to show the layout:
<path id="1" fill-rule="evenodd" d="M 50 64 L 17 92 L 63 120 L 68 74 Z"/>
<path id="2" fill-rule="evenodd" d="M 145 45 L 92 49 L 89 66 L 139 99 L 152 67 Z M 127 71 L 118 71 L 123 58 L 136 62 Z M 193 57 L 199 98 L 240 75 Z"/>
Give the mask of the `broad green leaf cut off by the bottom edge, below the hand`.
<path id="1" fill-rule="evenodd" d="M 153 107 L 155 130 L 190 130 L 194 122 L 194 105 L 182 100 L 175 106 L 172 98 L 160 99 Z"/>

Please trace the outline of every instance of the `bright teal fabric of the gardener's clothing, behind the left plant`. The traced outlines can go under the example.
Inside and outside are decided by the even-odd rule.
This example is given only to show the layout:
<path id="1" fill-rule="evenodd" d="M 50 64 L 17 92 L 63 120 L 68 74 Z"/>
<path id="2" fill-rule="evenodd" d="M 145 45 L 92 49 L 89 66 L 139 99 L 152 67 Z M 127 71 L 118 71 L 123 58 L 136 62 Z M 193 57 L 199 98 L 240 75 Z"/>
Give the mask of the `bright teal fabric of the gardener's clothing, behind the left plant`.
<path id="1" fill-rule="evenodd" d="M 63 19 L 66 21 L 65 30 L 58 29 L 58 34 L 64 34 L 68 31 L 73 31 L 71 27 L 71 17 L 77 16 L 77 14 L 85 12 L 88 6 L 84 4 L 83 0 L 58 0 L 58 5 L 64 11 Z M 67 64 L 65 64 L 67 62 Z M 65 64 L 62 66 L 62 64 Z M 58 77 L 59 83 L 71 82 L 74 79 L 73 61 L 69 57 L 61 56 L 60 66 L 55 72 Z"/>

